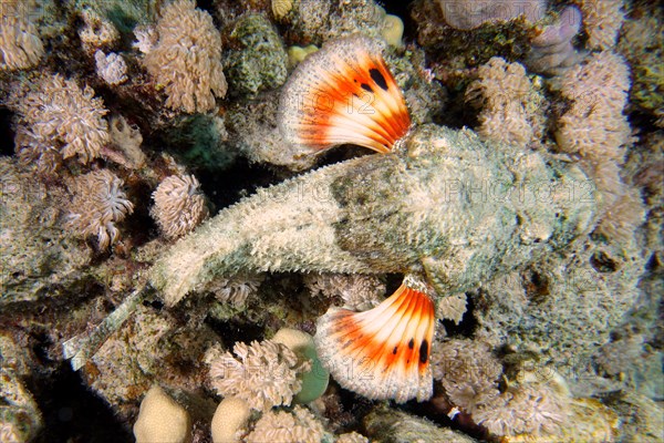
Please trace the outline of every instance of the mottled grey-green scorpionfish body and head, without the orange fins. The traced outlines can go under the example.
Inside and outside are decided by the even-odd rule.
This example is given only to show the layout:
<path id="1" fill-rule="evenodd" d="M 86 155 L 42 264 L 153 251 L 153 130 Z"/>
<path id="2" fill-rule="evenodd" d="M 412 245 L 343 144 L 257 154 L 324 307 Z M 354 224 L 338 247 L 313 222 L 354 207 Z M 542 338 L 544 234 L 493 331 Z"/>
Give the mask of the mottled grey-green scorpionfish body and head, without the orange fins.
<path id="1" fill-rule="evenodd" d="M 425 125 L 394 153 L 314 171 L 222 210 L 158 260 L 152 285 L 169 305 L 239 271 L 415 272 L 439 295 L 458 292 L 585 233 L 588 188 L 575 166 Z"/>

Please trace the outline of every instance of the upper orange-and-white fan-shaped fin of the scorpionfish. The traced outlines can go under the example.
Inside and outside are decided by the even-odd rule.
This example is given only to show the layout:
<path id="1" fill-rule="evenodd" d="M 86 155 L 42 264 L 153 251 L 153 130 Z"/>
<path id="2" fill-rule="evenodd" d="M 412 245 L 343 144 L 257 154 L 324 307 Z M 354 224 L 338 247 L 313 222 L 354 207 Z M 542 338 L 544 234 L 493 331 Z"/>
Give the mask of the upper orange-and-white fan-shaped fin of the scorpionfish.
<path id="1" fill-rule="evenodd" d="M 387 153 L 411 127 L 381 43 L 362 35 L 331 41 L 300 63 L 283 86 L 278 121 L 307 153 L 345 143 Z"/>

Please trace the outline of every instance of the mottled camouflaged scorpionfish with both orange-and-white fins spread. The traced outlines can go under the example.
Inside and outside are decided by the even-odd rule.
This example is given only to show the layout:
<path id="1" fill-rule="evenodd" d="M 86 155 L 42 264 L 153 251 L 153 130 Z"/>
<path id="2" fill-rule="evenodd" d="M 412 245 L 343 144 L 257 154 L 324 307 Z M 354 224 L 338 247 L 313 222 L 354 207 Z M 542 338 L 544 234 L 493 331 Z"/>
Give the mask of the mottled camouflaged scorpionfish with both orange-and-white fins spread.
<path id="1" fill-rule="evenodd" d="M 381 47 L 366 38 L 336 40 L 301 63 L 279 119 L 304 154 L 344 143 L 380 154 L 222 210 L 156 264 L 152 286 L 174 305 L 238 272 L 403 274 L 376 308 L 331 308 L 318 322 L 323 364 L 370 399 L 428 399 L 434 303 L 564 246 L 593 220 L 578 167 L 468 130 L 411 128 Z"/>

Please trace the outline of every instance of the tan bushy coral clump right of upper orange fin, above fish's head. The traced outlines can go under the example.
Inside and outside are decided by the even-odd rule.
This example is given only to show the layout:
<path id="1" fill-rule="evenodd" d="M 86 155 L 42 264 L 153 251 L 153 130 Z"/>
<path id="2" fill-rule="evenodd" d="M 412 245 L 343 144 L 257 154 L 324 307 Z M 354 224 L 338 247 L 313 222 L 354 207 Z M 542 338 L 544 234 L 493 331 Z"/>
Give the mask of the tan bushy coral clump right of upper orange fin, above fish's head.
<path id="1" fill-rule="evenodd" d="M 511 144 L 537 144 L 544 131 L 544 97 L 519 63 L 492 58 L 478 69 L 479 80 L 466 92 L 480 103 L 478 132 L 486 138 Z"/>

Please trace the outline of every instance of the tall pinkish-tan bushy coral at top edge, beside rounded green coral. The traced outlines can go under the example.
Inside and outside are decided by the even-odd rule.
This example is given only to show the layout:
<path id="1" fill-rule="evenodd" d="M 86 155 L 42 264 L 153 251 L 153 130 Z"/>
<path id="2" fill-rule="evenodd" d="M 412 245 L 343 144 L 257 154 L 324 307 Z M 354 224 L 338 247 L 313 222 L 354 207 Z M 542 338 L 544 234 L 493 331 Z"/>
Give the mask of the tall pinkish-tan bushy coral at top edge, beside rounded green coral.
<path id="1" fill-rule="evenodd" d="M 215 96 L 226 95 L 227 83 L 221 35 L 210 14 L 191 0 L 177 0 L 164 8 L 155 31 L 158 41 L 144 64 L 164 86 L 166 105 L 188 113 L 214 109 Z"/>

